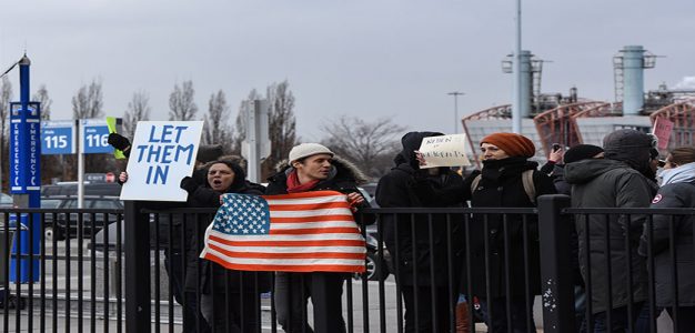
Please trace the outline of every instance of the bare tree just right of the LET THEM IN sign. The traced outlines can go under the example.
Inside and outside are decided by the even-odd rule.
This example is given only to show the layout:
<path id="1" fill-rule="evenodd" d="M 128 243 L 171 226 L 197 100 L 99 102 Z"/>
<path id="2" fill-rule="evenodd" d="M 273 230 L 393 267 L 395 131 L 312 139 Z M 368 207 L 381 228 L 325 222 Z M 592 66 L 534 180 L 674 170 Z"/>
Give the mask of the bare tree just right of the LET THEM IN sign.
<path id="1" fill-rule="evenodd" d="M 210 95 L 208 114 L 204 115 L 205 127 L 203 131 L 203 144 L 220 143 L 229 152 L 232 148 L 232 128 L 230 109 L 222 90 Z"/>

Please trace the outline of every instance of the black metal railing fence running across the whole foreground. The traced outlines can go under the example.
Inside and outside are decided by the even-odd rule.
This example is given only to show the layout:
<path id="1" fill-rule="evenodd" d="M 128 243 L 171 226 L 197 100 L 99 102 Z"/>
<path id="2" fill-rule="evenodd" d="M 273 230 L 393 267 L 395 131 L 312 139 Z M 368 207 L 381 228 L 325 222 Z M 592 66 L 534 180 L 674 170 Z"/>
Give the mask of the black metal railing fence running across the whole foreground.
<path id="1" fill-rule="evenodd" d="M 665 264 L 674 285 L 688 278 L 676 264 L 688 254 L 674 250 L 684 234 L 678 218 L 695 210 L 570 209 L 563 195 L 541 198 L 537 209 L 369 209 L 356 216 L 376 216 L 362 229 L 366 274 L 296 274 L 290 283 L 283 274 L 220 272 L 197 260 L 214 210 L 129 202 L 124 211 L 9 210 L 0 218 L 9 222 L 21 213 L 36 213 L 28 225 L 41 234 L 57 221 L 74 230 L 66 240 L 29 238 L 40 253 L 17 254 L 11 248 L 22 248 L 23 239 L 11 244 L 13 226 L 2 224 L 0 254 L 11 254 L 0 266 L 14 271 L 10 282 L 0 269 L 0 291 L 7 291 L 0 294 L 2 332 L 236 332 L 233 325 L 239 332 L 283 332 L 279 322 L 294 322 L 291 332 L 340 332 L 341 321 L 345 332 L 464 332 L 456 329 L 462 315 L 470 323 L 465 332 L 485 331 L 485 323 L 501 332 L 578 332 L 582 324 L 592 332 L 597 319 L 608 331 L 624 319 L 631 332 L 644 324 L 642 332 L 656 332 L 663 295 L 655 289 L 655 262 Z M 659 249 L 666 252 L 652 249 L 655 214 L 675 216 L 666 250 Z M 601 232 L 611 225 L 617 229 Z M 642 225 L 647 251 L 637 258 Z M 16 264 L 20 259 L 27 266 Z M 23 269 L 37 282 L 20 283 Z M 610 283 L 597 293 L 602 281 Z M 300 284 L 289 300 L 276 289 Z M 575 306 L 582 286 L 584 307 Z M 682 329 L 677 289 L 669 292 L 674 326 Z"/>

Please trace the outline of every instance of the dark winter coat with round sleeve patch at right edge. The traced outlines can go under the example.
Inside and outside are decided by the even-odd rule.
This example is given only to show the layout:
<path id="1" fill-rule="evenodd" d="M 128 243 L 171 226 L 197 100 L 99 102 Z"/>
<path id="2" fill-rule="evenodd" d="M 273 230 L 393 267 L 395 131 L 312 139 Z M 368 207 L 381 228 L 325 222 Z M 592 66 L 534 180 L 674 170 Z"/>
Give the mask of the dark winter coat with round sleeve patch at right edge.
<path id="1" fill-rule="evenodd" d="M 695 208 L 695 183 L 679 182 L 664 185 L 652 201 L 652 208 Z M 693 253 L 694 215 L 654 215 L 652 252 L 654 253 L 655 291 L 657 306 L 673 306 L 673 266 L 671 259 L 671 220 L 675 235 L 675 266 L 678 274 L 678 305 L 695 306 L 695 261 Z M 642 234 L 639 253 L 647 252 L 647 229 Z"/>

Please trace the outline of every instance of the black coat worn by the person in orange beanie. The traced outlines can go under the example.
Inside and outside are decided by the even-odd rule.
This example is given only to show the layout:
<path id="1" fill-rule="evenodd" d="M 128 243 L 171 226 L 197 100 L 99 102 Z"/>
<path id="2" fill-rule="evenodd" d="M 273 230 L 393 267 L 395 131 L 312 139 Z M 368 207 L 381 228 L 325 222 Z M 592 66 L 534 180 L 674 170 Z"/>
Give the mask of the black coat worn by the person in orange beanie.
<path id="1" fill-rule="evenodd" d="M 551 178 L 536 171 L 537 163 L 526 161 L 525 158 L 507 158 L 495 161 L 484 161 L 482 179 L 471 196 L 473 208 L 532 208 L 535 206 L 526 194 L 522 182 L 522 173 L 534 170 L 533 183 L 536 199 L 543 194 L 554 194 L 555 188 Z M 462 276 L 471 272 L 473 295 L 487 297 L 486 280 L 490 281 L 490 296 L 525 296 L 525 287 L 532 295 L 541 292 L 541 266 L 538 252 L 538 223 L 535 215 L 526 216 L 526 232 L 524 218 L 518 214 L 506 215 L 506 234 L 510 248 L 508 271 L 505 269 L 505 224 L 502 214 L 474 214 L 470 225 L 471 262 L 464 265 Z M 524 233 L 527 236 L 528 262 L 524 261 Z M 485 251 L 485 239 L 488 250 Z M 490 258 L 490 274 L 486 276 L 486 260 Z M 526 281 L 526 269 L 528 281 Z M 487 279 L 486 279 L 487 278 Z M 506 291 L 508 279 L 511 294 Z M 464 292 L 467 285 L 464 282 Z"/>

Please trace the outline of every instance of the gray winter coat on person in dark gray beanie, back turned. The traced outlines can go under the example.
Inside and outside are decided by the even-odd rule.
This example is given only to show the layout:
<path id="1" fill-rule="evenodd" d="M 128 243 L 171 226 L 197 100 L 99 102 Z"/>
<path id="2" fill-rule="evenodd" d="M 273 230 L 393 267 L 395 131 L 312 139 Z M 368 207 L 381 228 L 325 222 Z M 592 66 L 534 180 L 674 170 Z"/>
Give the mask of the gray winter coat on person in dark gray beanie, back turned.
<path id="1" fill-rule="evenodd" d="M 647 208 L 655 192 L 642 173 L 615 160 L 590 159 L 568 163 L 565 165 L 565 180 L 573 184 L 573 208 Z M 580 269 L 584 281 L 591 271 L 593 312 L 604 312 L 608 307 L 608 276 L 613 309 L 627 305 L 628 278 L 632 278 L 633 302 L 646 300 L 646 262 L 637 254 L 646 218 L 631 215 L 628 219 L 627 215 L 617 214 L 578 214 L 575 218 L 580 241 Z M 590 244 L 586 244 L 587 236 Z M 605 250 L 606 236 L 610 239 L 608 253 Z M 625 244 L 626 240 L 628 246 Z M 586 266 L 587 249 L 591 253 L 591 268 Z M 606 274 L 608 263 L 611 275 Z"/>

